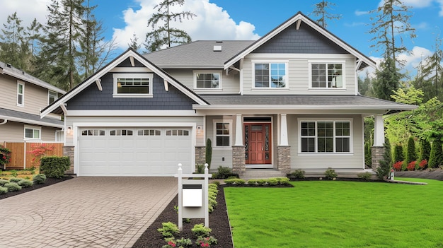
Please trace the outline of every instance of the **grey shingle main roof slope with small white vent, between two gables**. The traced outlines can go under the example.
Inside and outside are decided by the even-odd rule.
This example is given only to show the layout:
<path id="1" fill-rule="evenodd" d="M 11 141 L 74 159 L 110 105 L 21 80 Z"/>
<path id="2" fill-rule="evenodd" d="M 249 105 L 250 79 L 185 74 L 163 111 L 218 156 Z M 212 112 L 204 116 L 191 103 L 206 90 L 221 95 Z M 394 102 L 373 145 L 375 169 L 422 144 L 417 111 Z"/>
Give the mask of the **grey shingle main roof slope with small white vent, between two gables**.
<path id="1" fill-rule="evenodd" d="M 143 57 L 163 69 L 222 69 L 226 60 L 253 42 L 253 40 L 197 40 L 150 52 Z M 214 46 L 220 46 L 221 51 L 214 51 Z"/>

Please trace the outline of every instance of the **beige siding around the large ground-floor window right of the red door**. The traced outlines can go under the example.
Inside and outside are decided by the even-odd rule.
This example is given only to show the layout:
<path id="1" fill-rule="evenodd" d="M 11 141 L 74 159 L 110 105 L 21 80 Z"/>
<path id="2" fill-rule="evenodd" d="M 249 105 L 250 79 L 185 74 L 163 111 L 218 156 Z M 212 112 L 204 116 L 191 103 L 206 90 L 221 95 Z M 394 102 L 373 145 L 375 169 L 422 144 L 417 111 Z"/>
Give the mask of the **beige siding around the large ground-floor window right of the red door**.
<path id="1" fill-rule="evenodd" d="M 301 154 L 299 153 L 299 119 L 339 120 L 352 119 L 352 153 L 350 154 Z M 326 170 L 334 169 L 364 169 L 363 130 L 360 115 L 297 115 L 289 114 L 288 138 L 291 146 L 291 169 Z"/>

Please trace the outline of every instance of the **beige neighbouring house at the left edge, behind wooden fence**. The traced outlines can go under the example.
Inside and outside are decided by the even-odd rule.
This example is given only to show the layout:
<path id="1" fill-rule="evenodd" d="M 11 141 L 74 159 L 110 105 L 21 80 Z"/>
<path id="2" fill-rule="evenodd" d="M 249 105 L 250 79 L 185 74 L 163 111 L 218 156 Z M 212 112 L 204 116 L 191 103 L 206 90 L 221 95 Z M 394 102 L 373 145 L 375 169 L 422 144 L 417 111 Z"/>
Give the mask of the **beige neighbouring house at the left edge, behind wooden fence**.
<path id="1" fill-rule="evenodd" d="M 49 83 L 0 62 L 0 144 L 63 141 L 59 115 L 40 118 L 40 110 L 66 93 Z"/>

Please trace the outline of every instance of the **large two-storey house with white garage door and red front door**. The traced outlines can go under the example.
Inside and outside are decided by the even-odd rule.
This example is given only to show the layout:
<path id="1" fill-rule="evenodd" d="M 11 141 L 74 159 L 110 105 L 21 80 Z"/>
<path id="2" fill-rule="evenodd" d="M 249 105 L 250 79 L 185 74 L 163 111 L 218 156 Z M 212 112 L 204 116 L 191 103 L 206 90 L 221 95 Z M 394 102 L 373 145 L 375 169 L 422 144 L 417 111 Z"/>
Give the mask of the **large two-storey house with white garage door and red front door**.
<path id="1" fill-rule="evenodd" d="M 194 172 L 207 138 L 213 171 L 355 174 L 365 168 L 364 117 L 375 117 L 377 158 L 383 114 L 415 108 L 359 95 L 367 66 L 376 64 L 297 13 L 257 41 L 128 49 L 41 115 L 64 114 L 79 176 L 171 176 L 178 163 Z"/>

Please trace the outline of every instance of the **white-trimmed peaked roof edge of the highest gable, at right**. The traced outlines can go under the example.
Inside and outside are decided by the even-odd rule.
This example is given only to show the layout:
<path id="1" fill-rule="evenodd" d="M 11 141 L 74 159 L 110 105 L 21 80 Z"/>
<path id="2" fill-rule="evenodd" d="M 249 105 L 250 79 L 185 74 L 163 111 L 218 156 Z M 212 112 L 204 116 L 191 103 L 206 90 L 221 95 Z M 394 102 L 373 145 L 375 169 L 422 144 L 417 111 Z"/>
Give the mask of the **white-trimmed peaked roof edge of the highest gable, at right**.
<path id="1" fill-rule="evenodd" d="M 299 23 L 297 23 L 297 22 L 299 22 Z M 281 33 L 286 28 L 289 28 L 289 26 L 293 25 L 294 23 L 297 23 L 297 25 L 303 25 L 301 23 L 309 25 L 311 28 L 316 30 L 318 33 L 321 33 L 321 35 L 323 35 L 324 37 L 328 38 L 330 41 L 334 42 L 338 46 L 342 47 L 343 49 L 345 49 L 345 51 L 349 52 L 353 56 L 357 57 L 357 59 L 362 61 L 361 66 L 359 67 L 359 69 L 360 68 L 364 68 L 366 66 L 372 66 L 373 68 L 376 67 L 376 62 L 375 61 L 373 61 L 372 59 L 369 59 L 369 57 L 367 57 L 366 55 L 362 54 L 361 52 L 359 52 L 354 47 L 351 47 L 346 42 L 341 40 L 339 37 L 333 35 L 333 33 L 330 33 L 328 30 L 326 30 L 325 28 L 321 27 L 321 25 L 318 25 L 316 22 L 311 20 L 311 18 L 305 16 L 301 12 L 298 12 L 297 14 L 292 16 L 292 18 L 289 18 L 284 23 L 279 25 L 277 28 L 274 28 L 272 31 L 270 31 L 270 33 L 267 33 L 265 36 L 261 37 L 260 39 L 258 39 L 255 42 L 253 42 L 253 44 L 249 45 L 248 47 L 243 49 L 241 52 L 238 52 L 238 54 L 234 55 L 234 57 L 231 57 L 230 59 L 228 59 L 224 63 L 224 69 L 229 69 L 229 67 L 233 66 L 234 64 L 236 64 L 237 61 L 239 61 L 240 59 L 243 59 L 244 57 L 246 57 L 246 55 L 250 54 L 255 49 L 257 49 L 261 45 L 265 44 L 265 42 L 267 42 L 270 39 L 272 39 L 272 37 L 275 37 L 276 35 Z"/>

